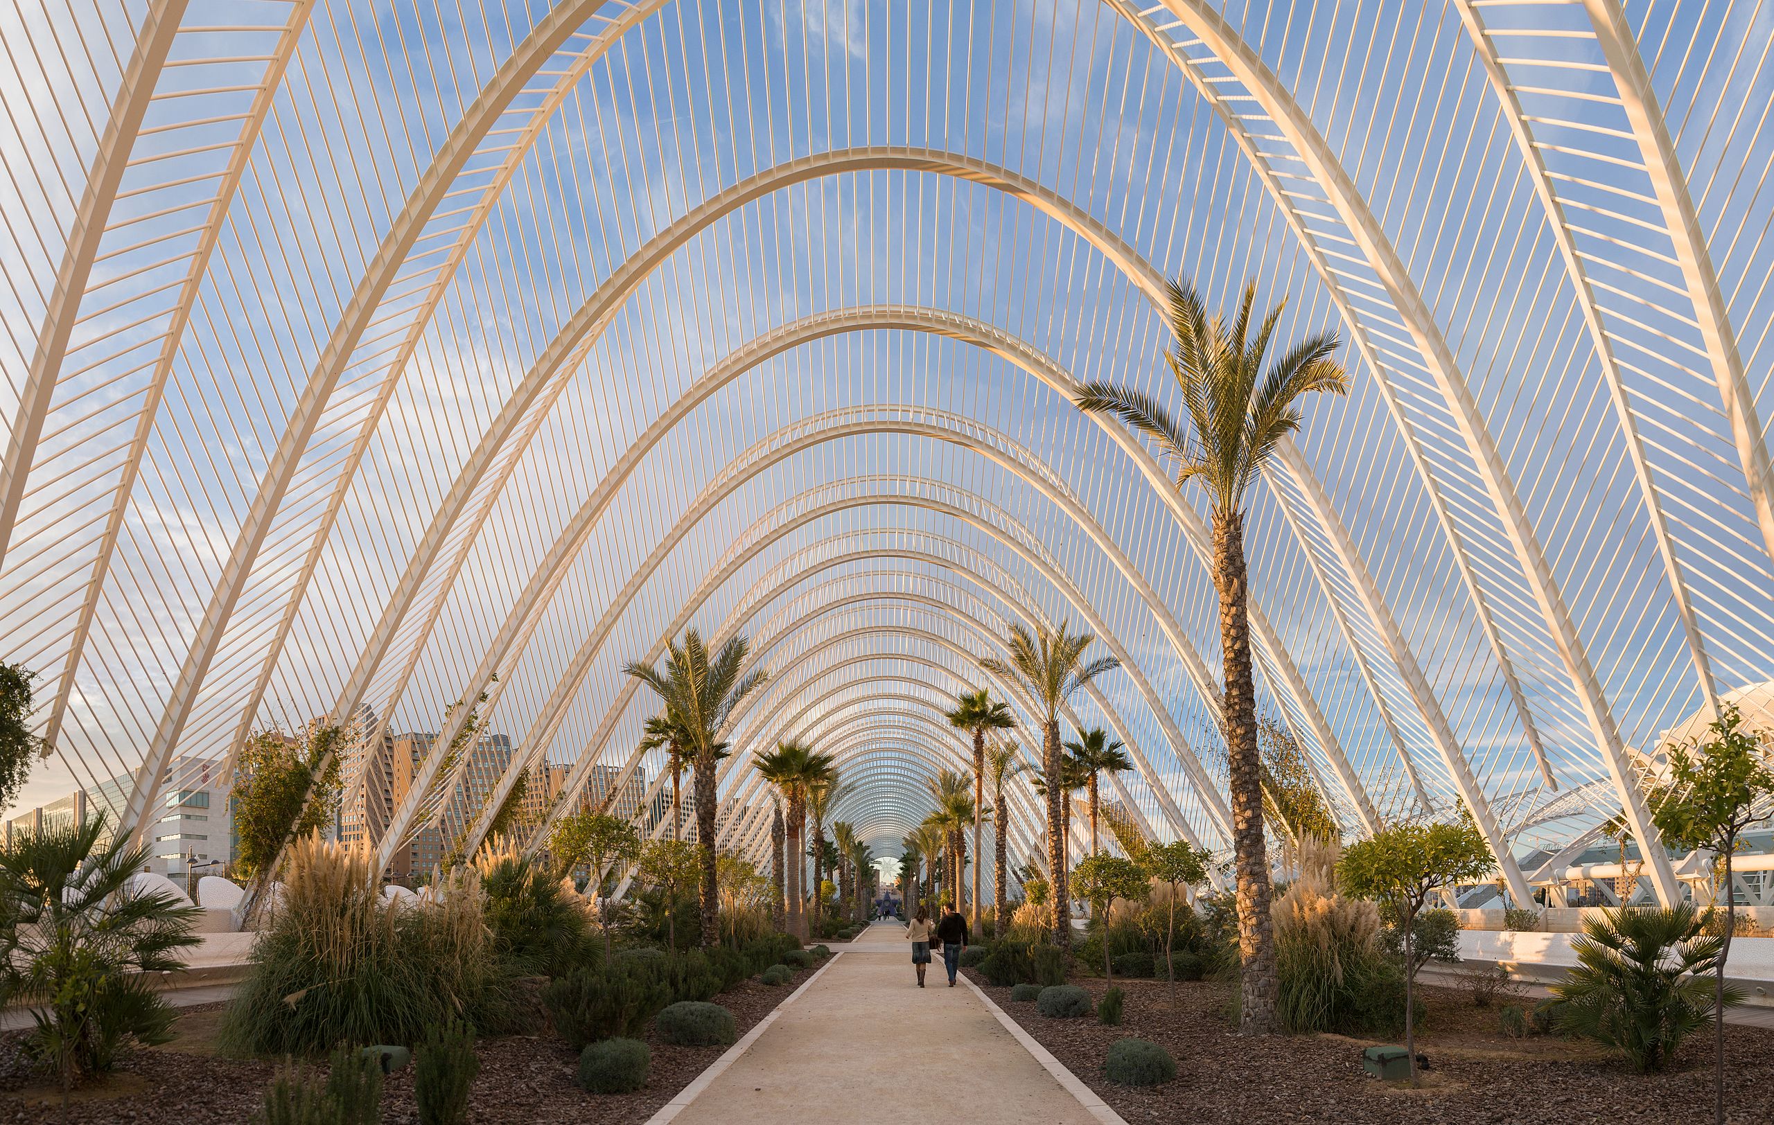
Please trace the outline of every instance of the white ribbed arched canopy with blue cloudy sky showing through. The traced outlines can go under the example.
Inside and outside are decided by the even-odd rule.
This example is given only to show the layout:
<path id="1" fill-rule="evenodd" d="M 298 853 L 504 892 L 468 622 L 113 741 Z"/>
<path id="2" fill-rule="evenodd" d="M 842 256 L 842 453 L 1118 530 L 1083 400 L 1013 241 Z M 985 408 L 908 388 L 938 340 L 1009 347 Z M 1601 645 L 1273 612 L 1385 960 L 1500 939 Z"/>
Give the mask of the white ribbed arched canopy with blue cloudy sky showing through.
<path id="1" fill-rule="evenodd" d="M 1261 706 L 1350 832 L 1471 806 L 1520 893 L 1634 751 L 1774 678 L 1774 137 L 1719 108 L 1774 75 L 1740 5 L 231 7 L 16 16 L 27 807 L 122 777 L 142 832 L 255 728 L 369 704 L 442 745 L 483 688 L 518 765 L 656 791 L 619 667 L 688 625 L 795 667 L 749 759 L 812 699 L 821 738 L 907 722 L 827 664 L 935 706 L 986 633 L 1071 619 L 1128 665 L 1068 717 L 1139 747 L 1119 799 L 1221 845 L 1201 497 L 1066 403 L 1169 394 L 1173 271 L 1348 339 L 1249 539 Z M 871 839 L 930 761 L 857 759 Z M 734 832 L 754 783 L 724 774 Z"/>

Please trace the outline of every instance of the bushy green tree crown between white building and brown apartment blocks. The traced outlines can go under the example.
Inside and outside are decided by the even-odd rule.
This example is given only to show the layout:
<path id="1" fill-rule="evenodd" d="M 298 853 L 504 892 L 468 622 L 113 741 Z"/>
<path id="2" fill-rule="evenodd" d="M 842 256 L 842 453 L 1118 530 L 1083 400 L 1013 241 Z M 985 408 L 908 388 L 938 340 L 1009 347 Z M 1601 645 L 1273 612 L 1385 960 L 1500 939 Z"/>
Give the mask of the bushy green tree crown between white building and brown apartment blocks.
<path id="1" fill-rule="evenodd" d="M 303 736 L 259 731 L 234 759 L 234 832 L 239 836 L 236 866 L 257 875 L 277 859 L 286 839 L 300 839 L 326 827 L 339 806 L 341 729 L 310 724 Z M 325 772 L 318 772 L 321 763 Z"/>

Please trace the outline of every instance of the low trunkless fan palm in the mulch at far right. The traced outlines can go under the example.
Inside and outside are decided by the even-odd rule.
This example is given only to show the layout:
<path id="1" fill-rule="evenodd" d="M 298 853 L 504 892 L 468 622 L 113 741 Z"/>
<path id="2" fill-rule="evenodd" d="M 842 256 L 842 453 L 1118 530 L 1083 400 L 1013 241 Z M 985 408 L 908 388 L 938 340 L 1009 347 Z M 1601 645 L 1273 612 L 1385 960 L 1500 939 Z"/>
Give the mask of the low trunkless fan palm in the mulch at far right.
<path id="1" fill-rule="evenodd" d="M 1572 942 L 1577 965 L 1552 994 L 1565 1001 L 1561 1031 L 1627 1056 L 1639 1074 L 1662 1070 L 1682 1040 L 1714 1019 L 1712 972 L 1723 940 L 1701 933 L 1691 905 L 1666 910 L 1607 910 L 1586 919 Z M 1726 1006 L 1742 990 L 1726 988 Z"/>

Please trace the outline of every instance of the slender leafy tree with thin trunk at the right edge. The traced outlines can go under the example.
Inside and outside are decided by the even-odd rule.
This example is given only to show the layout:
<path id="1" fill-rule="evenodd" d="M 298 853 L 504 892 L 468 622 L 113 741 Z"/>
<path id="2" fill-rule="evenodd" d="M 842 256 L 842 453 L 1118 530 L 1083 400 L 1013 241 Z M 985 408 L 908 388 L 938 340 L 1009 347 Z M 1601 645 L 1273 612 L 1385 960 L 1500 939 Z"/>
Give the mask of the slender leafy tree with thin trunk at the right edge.
<path id="1" fill-rule="evenodd" d="M 1712 848 L 1719 855 L 1724 885 L 1724 940 L 1714 965 L 1714 1120 L 1724 1125 L 1724 962 L 1731 955 L 1737 910 L 1731 857 L 1747 829 L 1769 818 L 1774 772 L 1769 772 L 1762 738 L 1744 728 L 1737 706 L 1726 703 L 1698 745 L 1669 747 L 1668 788 L 1653 793 L 1652 814 L 1662 838 L 1687 850 Z"/>

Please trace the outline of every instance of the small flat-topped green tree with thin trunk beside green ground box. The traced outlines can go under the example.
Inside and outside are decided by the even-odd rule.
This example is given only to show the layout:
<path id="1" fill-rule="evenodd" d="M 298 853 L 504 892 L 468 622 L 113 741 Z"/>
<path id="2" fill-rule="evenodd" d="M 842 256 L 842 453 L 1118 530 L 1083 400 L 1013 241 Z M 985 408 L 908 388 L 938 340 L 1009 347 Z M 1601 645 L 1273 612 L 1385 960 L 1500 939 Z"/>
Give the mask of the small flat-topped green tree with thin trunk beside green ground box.
<path id="1" fill-rule="evenodd" d="M 1417 1084 L 1414 981 L 1421 962 L 1412 949 L 1412 930 L 1430 891 L 1448 884 L 1474 882 L 1492 868 L 1485 836 L 1462 816 L 1458 823 L 1401 823 L 1352 845 L 1338 861 L 1338 885 L 1345 893 L 1373 898 L 1398 919 L 1405 948 L 1405 1054 L 1410 1084 Z"/>

